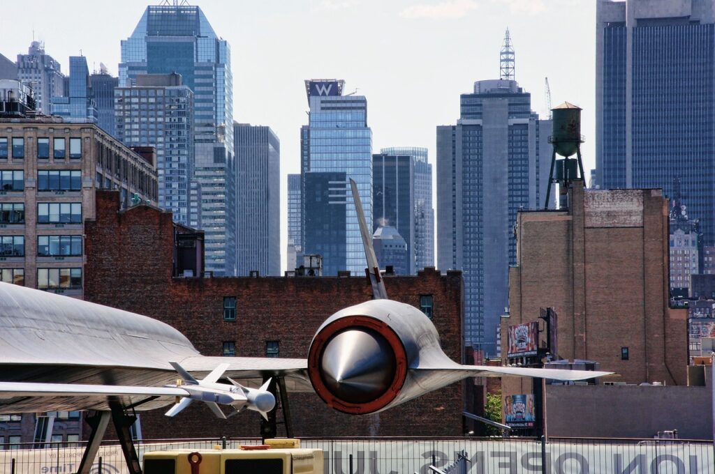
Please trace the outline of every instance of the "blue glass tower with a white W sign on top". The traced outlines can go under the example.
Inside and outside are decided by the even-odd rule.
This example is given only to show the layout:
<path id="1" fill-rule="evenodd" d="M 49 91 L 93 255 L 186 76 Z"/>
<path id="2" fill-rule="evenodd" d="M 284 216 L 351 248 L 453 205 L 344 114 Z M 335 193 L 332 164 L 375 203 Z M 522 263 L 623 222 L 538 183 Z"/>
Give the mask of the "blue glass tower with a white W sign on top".
<path id="1" fill-rule="evenodd" d="M 303 253 L 322 255 L 323 274 L 328 276 L 340 270 L 365 273 L 365 251 L 348 179 L 357 183 L 365 218 L 373 221 L 373 132 L 368 127 L 368 101 L 365 96 L 343 96 L 344 84 L 337 79 L 305 81 L 310 114 L 300 131 Z M 322 176 L 311 181 L 309 192 L 311 173 Z M 319 212 L 324 214 L 313 215 Z"/>

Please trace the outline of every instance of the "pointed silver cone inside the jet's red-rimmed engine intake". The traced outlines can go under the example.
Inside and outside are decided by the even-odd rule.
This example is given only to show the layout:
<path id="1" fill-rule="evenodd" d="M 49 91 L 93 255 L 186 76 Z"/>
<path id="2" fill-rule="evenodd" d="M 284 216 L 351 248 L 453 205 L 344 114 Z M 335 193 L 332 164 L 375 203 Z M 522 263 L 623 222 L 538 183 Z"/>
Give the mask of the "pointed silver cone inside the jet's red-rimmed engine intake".
<path id="1" fill-rule="evenodd" d="M 322 378 L 340 400 L 368 403 L 388 390 L 395 378 L 395 354 L 377 331 L 337 333 L 322 353 Z"/>

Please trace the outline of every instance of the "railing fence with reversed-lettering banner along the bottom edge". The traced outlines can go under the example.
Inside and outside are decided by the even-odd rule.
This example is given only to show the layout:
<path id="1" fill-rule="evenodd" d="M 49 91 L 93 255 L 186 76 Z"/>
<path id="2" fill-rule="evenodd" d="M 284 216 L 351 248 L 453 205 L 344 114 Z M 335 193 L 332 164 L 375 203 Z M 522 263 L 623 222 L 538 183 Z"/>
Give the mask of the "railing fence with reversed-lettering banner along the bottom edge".
<path id="1" fill-rule="evenodd" d="M 631 438 L 300 438 L 325 453 L 325 474 L 431 474 L 468 453 L 467 473 L 715 474 L 711 441 Z M 257 445 L 258 438 L 138 440 L 137 453 Z M 0 445 L 0 474 L 77 472 L 84 443 Z M 127 473 L 116 442 L 99 448 L 92 474 Z"/>

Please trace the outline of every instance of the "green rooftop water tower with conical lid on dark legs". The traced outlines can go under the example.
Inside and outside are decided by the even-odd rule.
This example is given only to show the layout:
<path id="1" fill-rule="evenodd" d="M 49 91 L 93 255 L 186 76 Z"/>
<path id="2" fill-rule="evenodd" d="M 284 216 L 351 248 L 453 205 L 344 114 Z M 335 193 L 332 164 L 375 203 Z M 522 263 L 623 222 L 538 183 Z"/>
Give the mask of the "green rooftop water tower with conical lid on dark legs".
<path id="1" fill-rule="evenodd" d="M 568 206 L 568 188 L 573 181 L 581 180 L 585 186 L 586 177 L 583 174 L 581 161 L 581 107 L 564 102 L 551 109 L 553 135 L 548 137 L 548 143 L 553 145 L 551 154 L 551 171 L 548 173 L 548 186 L 546 188 L 546 203 L 543 208 L 548 209 L 548 199 L 551 196 L 551 183 L 559 184 L 559 207 Z M 576 154 L 576 159 L 571 158 Z M 563 159 L 556 159 L 556 155 Z M 554 171 L 556 169 L 556 171 Z"/>

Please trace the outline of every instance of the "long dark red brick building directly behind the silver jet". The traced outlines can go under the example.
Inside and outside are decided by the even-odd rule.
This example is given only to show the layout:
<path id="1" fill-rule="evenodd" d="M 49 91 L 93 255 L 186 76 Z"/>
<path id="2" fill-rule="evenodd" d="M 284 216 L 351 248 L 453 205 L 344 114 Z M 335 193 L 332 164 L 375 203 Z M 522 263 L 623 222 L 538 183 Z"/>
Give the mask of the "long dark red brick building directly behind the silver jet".
<path id="1" fill-rule="evenodd" d="M 370 299 L 365 278 L 182 278 L 174 268 L 171 213 L 151 206 L 119 211 L 119 194 L 97 193 L 87 221 L 85 299 L 157 318 L 182 331 L 204 355 L 305 358 L 312 336 L 335 311 Z M 433 268 L 386 278 L 395 300 L 431 311 L 445 353 L 461 361 L 462 276 Z M 292 393 L 295 435 L 462 435 L 463 384 L 377 415 L 345 415 L 315 394 Z M 247 412 L 220 420 L 202 404 L 176 418 L 142 413 L 144 438 L 258 435 Z M 279 428 L 279 433 L 281 429 Z"/>

